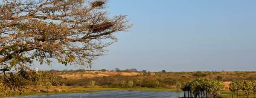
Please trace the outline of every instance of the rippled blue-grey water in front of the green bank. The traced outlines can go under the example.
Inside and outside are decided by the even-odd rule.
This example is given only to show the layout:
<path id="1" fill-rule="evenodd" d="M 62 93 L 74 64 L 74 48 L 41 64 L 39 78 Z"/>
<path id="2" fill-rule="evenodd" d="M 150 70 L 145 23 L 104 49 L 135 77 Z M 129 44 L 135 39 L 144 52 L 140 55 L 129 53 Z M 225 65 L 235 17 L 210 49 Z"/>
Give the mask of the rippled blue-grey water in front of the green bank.
<path id="1" fill-rule="evenodd" d="M 55 95 L 30 95 L 24 97 L 11 98 L 178 98 L 182 97 L 183 92 L 168 91 L 103 91 L 95 93 L 71 93 Z"/>

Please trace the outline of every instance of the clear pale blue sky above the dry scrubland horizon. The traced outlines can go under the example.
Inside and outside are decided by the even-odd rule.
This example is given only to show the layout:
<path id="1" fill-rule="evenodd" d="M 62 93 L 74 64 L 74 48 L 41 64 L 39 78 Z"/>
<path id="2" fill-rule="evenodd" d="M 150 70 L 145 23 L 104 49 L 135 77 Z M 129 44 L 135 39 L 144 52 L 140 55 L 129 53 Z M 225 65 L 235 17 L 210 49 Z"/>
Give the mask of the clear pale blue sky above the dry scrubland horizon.
<path id="1" fill-rule="evenodd" d="M 109 0 L 109 15 L 126 14 L 134 26 L 116 33 L 119 41 L 91 69 L 255 71 L 255 5 L 256 0 Z M 88 69 L 55 62 L 34 67 Z"/>

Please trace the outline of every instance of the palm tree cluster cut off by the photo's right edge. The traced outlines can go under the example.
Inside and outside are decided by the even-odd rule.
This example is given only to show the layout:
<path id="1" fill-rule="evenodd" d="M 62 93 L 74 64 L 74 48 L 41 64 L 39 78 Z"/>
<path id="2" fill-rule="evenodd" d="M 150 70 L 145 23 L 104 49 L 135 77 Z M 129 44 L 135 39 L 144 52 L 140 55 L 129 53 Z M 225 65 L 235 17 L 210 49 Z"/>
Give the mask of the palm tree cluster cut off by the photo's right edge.
<path id="1" fill-rule="evenodd" d="M 254 98 L 256 98 L 256 80 L 253 81 L 232 81 L 229 85 L 229 90 L 232 92 L 232 98 L 233 94 L 237 94 L 237 98 L 241 96 L 241 93 L 249 98 L 249 96 L 253 93 Z"/>

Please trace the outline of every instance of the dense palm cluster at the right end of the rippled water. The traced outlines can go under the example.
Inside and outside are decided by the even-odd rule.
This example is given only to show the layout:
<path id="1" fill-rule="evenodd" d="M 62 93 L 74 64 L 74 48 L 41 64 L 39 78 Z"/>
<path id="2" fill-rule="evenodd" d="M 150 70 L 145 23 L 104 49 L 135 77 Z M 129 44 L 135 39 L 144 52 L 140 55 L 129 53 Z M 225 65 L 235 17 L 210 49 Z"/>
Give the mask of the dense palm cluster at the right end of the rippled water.
<path id="1" fill-rule="evenodd" d="M 184 91 L 184 98 L 218 98 L 218 91 L 222 88 L 221 81 L 196 79 L 182 83 L 180 89 Z"/>

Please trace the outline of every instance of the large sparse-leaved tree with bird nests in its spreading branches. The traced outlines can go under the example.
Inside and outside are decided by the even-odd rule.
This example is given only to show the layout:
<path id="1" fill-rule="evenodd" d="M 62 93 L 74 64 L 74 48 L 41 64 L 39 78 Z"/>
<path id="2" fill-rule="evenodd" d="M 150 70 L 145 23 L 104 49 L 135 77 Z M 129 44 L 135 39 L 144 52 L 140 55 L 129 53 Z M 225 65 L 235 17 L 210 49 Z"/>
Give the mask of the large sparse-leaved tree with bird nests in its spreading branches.
<path id="1" fill-rule="evenodd" d="M 109 17 L 106 0 L 3 0 L 0 4 L 2 71 L 28 68 L 34 60 L 91 66 L 126 31 L 126 15 Z"/>

